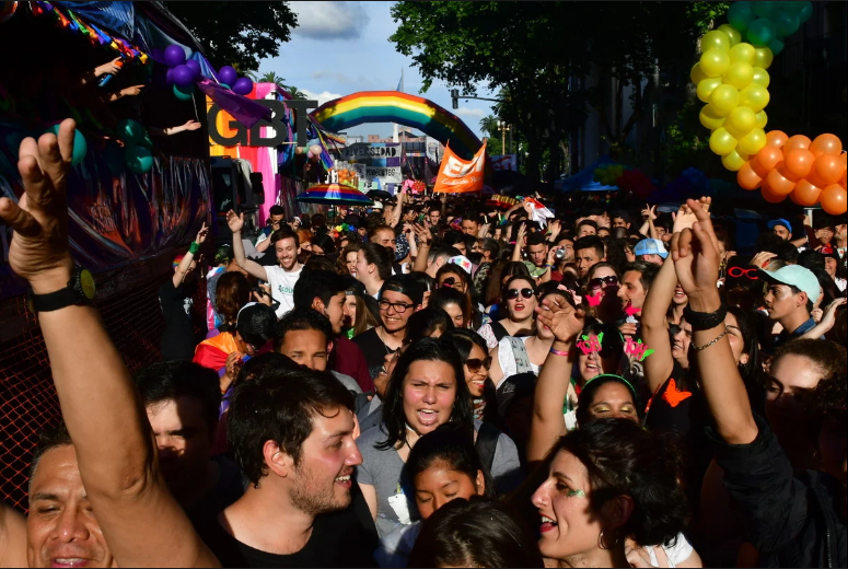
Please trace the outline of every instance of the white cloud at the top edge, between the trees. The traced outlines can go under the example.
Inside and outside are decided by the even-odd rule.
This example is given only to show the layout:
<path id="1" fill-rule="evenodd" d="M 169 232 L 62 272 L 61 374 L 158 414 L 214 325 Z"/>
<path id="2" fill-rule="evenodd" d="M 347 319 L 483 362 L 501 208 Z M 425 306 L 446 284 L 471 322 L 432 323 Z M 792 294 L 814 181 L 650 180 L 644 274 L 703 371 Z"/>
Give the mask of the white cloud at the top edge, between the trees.
<path id="1" fill-rule="evenodd" d="M 292 33 L 312 39 L 359 39 L 371 18 L 361 2 L 291 2 L 298 14 Z"/>

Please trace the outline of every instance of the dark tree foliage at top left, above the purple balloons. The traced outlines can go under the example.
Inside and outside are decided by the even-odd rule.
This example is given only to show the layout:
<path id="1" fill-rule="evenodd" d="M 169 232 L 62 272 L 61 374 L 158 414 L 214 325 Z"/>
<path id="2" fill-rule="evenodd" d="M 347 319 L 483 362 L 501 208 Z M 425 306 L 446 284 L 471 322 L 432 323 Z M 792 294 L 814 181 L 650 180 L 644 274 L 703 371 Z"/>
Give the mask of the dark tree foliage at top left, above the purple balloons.
<path id="1" fill-rule="evenodd" d="M 231 65 L 257 69 L 259 59 L 275 57 L 291 38 L 298 16 L 289 2 L 177 2 L 165 1 L 200 42 L 216 67 Z"/>

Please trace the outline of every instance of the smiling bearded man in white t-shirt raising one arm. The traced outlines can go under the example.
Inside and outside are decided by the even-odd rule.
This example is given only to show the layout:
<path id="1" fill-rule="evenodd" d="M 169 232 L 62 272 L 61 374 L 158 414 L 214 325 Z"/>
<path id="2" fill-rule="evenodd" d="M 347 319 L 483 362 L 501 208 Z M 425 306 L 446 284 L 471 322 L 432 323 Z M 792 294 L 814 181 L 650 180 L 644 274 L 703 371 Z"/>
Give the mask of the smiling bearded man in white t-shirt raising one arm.
<path id="1" fill-rule="evenodd" d="M 298 263 L 298 234 L 288 225 L 271 233 L 270 242 L 274 253 L 277 256 L 278 267 L 263 267 L 258 263 L 248 259 L 244 254 L 242 244 L 242 228 L 244 227 L 244 213 L 236 216 L 233 210 L 226 213 L 226 224 L 233 232 L 233 255 L 235 263 L 239 264 L 248 275 L 257 279 L 268 281 L 271 287 L 271 297 L 280 305 L 277 307 L 277 317 L 294 307 L 294 283 L 300 278 L 303 268 Z"/>

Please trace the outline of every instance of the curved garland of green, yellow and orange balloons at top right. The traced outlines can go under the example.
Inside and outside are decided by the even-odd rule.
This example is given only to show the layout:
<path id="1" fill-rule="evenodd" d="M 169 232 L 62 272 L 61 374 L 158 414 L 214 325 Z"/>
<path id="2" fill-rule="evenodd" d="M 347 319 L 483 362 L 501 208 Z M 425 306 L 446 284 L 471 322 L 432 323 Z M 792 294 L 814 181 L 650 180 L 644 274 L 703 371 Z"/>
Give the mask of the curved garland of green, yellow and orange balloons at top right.
<path id="1" fill-rule="evenodd" d="M 711 130 L 709 146 L 736 182 L 779 204 L 822 205 L 832 214 L 846 211 L 846 154 L 834 135 L 815 140 L 803 135 L 765 131 L 769 76 L 783 38 L 813 13 L 811 2 L 735 2 L 728 21 L 700 39 L 701 57 L 690 79 L 706 103 L 701 125 Z"/>

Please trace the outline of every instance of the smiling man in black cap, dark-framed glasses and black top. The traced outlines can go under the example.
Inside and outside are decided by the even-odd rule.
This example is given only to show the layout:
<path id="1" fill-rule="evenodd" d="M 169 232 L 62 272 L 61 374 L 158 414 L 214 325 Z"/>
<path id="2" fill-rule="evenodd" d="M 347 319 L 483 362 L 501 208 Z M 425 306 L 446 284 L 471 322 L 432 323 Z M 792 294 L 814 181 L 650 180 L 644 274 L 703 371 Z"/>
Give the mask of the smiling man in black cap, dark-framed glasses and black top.
<path id="1" fill-rule="evenodd" d="M 372 379 L 380 373 L 386 355 L 404 345 L 409 316 L 420 310 L 422 301 L 421 286 L 408 275 L 390 277 L 383 283 L 379 297 L 381 325 L 353 337 Z"/>

